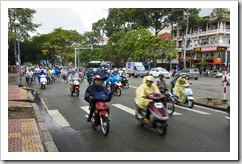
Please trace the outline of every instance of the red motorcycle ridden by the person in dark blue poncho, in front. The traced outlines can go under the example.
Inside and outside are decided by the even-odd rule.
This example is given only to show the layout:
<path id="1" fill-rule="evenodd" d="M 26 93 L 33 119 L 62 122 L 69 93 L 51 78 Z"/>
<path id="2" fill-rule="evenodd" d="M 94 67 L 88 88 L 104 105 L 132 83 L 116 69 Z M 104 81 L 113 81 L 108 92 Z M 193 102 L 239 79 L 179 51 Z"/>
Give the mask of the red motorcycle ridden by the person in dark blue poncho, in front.
<path id="1" fill-rule="evenodd" d="M 96 102 L 95 110 L 91 118 L 93 127 L 101 126 L 103 134 L 106 136 L 109 132 L 109 104 L 107 102 Z M 85 115 L 88 119 L 88 114 Z"/>

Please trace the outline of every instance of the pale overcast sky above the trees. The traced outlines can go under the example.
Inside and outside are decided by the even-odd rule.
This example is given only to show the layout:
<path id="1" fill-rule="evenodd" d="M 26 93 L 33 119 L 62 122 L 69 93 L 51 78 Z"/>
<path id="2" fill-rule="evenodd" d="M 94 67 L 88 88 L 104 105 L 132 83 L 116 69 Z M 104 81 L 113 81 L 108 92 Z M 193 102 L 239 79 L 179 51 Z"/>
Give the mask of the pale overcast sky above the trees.
<path id="1" fill-rule="evenodd" d="M 34 23 L 41 23 L 38 28 L 40 34 L 47 34 L 54 28 L 62 27 L 66 30 L 77 30 L 83 34 L 92 30 L 92 23 L 108 16 L 108 8 L 34 8 Z M 211 8 L 202 9 L 201 15 L 210 14 Z"/>

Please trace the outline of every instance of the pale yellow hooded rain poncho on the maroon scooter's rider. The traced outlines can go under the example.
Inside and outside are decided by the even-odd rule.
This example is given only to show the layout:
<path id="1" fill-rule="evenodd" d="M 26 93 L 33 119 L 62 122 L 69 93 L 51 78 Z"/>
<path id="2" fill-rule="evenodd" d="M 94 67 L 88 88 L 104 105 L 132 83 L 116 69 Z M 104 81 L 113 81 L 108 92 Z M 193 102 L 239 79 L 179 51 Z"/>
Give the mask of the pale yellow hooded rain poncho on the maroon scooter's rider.
<path id="1" fill-rule="evenodd" d="M 152 84 L 150 87 L 146 84 L 146 77 L 143 79 L 143 84 L 141 84 L 136 89 L 136 100 L 138 106 L 144 110 L 147 110 L 147 105 L 152 102 L 151 99 L 143 98 L 143 96 L 147 96 L 151 93 L 160 93 L 158 87 L 155 84 Z"/>

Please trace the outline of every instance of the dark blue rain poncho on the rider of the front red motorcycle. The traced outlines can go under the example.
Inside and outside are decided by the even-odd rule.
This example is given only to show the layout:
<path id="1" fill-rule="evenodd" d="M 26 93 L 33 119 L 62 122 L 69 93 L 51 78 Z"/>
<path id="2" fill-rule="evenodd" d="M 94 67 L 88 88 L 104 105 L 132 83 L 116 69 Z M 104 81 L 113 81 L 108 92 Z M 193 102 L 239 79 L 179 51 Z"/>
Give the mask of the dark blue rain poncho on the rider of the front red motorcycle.
<path id="1" fill-rule="evenodd" d="M 112 93 L 106 87 L 102 85 L 91 85 L 86 89 L 84 99 L 89 102 L 89 97 L 92 96 L 92 101 L 102 101 L 102 102 L 109 102 L 112 98 Z"/>

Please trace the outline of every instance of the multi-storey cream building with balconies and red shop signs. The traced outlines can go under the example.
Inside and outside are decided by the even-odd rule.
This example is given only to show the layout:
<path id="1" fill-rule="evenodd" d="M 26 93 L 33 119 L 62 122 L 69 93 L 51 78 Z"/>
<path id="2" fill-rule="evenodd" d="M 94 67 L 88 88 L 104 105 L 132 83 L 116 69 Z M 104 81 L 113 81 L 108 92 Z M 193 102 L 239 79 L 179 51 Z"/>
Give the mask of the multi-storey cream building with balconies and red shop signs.
<path id="1" fill-rule="evenodd" d="M 186 67 L 200 67 L 203 69 L 223 69 L 225 54 L 230 56 L 230 15 L 220 13 L 209 16 L 208 23 L 189 28 L 187 34 Z M 185 34 L 181 29 L 172 32 L 173 41 L 178 50 L 179 65 L 184 65 Z M 203 61 L 203 66 L 201 64 Z"/>

